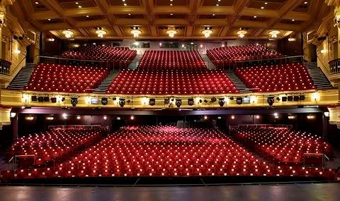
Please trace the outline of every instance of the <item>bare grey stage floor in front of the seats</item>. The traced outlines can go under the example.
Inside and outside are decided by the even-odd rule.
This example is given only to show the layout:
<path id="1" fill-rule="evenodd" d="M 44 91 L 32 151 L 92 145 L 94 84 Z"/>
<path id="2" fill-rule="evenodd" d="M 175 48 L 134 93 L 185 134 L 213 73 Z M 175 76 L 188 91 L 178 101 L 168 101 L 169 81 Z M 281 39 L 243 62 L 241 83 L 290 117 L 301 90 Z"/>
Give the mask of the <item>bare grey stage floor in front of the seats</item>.
<path id="1" fill-rule="evenodd" d="M 266 185 L 64 187 L 0 186 L 1 201 L 14 200 L 339 200 L 340 183 Z"/>

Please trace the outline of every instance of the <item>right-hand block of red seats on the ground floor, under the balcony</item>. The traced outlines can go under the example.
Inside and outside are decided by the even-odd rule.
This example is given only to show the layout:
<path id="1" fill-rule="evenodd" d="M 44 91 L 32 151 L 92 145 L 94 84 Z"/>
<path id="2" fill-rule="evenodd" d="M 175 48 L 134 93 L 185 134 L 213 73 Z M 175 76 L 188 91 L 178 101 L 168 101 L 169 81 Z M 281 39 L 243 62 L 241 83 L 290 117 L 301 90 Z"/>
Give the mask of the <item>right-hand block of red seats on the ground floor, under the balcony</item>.
<path id="1" fill-rule="evenodd" d="M 317 135 L 286 128 L 237 128 L 234 137 L 263 157 L 288 165 L 301 165 L 305 153 L 332 157 L 328 142 Z"/>

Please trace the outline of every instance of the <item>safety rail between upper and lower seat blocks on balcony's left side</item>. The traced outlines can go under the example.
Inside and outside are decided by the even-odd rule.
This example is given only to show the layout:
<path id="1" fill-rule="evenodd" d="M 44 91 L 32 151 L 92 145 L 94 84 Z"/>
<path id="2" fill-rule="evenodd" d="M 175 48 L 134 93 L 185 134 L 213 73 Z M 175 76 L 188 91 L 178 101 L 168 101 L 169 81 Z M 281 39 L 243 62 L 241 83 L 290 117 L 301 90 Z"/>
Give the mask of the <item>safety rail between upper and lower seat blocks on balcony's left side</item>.
<path id="1" fill-rule="evenodd" d="M 127 69 L 129 66 L 137 68 L 138 66 L 137 61 L 69 59 L 60 56 L 41 55 L 37 56 L 36 61 L 39 63 L 55 63 L 60 65 L 97 66 L 109 69 Z"/>

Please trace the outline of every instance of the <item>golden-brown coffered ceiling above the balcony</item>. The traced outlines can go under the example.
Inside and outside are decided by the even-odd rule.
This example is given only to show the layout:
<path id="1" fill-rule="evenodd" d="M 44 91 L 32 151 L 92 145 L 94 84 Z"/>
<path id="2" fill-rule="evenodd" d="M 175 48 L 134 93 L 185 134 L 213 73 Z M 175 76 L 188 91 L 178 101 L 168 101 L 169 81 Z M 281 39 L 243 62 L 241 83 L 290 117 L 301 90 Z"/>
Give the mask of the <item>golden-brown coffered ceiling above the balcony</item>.
<path id="1" fill-rule="evenodd" d="M 125 6 L 126 5 L 126 6 Z M 133 38 L 130 30 L 141 31 L 140 39 L 169 39 L 168 29 L 177 30 L 174 39 L 267 39 L 279 30 L 278 38 L 300 32 L 329 13 L 321 0 L 16 0 L 15 11 L 38 30 L 70 39 Z"/>

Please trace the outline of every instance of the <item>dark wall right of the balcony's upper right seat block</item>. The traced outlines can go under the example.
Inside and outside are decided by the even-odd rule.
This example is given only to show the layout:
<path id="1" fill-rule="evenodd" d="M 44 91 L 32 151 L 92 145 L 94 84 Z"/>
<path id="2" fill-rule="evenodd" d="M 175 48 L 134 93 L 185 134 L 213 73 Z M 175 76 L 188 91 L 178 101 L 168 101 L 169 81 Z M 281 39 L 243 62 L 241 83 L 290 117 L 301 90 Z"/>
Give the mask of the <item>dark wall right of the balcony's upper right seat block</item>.
<path id="1" fill-rule="evenodd" d="M 302 35 L 300 33 L 294 35 L 296 38 L 295 41 L 288 41 L 288 38 L 290 37 L 292 36 L 289 35 L 288 37 L 278 40 L 278 51 L 288 56 L 303 55 Z"/>

